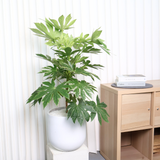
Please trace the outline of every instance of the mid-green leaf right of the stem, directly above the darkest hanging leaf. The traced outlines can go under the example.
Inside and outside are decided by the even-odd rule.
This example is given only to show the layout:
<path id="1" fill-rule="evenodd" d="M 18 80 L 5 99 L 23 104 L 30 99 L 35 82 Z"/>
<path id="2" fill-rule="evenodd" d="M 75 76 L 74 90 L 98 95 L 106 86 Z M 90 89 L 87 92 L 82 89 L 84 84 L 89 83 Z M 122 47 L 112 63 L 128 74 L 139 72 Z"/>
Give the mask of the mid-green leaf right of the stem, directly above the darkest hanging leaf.
<path id="1" fill-rule="evenodd" d="M 72 79 L 67 84 L 69 84 L 70 90 L 75 93 L 76 98 L 80 96 L 83 100 L 87 97 L 92 98 L 93 92 L 96 91 L 94 86 L 84 80 L 78 81 L 77 79 Z"/>

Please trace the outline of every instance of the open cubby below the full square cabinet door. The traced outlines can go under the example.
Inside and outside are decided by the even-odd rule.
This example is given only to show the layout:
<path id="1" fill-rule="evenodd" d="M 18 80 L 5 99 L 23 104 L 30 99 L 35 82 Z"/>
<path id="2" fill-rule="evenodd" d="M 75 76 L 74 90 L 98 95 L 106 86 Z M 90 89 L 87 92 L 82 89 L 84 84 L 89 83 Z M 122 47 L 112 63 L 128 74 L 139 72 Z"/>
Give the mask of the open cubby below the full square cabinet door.
<path id="1" fill-rule="evenodd" d="M 125 145 L 122 146 L 121 154 L 123 158 L 125 157 L 124 159 L 131 158 L 134 160 L 138 160 L 138 158 L 143 159 L 143 157 L 146 157 L 147 159 L 152 158 L 152 129 L 123 133 L 122 144 L 124 144 L 124 142 L 128 143 L 127 145 L 128 149 L 134 148 L 132 152 L 135 152 L 133 154 L 128 149 L 126 151 L 126 149 L 124 149 Z M 129 152 L 129 153 L 124 153 L 124 152 Z M 132 154 L 132 156 L 130 154 Z"/>

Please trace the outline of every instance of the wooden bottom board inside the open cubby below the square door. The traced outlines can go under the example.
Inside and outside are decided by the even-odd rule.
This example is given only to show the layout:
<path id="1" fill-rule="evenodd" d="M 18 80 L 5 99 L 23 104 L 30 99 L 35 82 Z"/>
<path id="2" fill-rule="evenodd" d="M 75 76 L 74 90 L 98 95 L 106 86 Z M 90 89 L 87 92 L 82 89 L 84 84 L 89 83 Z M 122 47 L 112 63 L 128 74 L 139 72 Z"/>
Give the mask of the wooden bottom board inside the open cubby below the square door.
<path id="1" fill-rule="evenodd" d="M 121 147 L 121 160 L 149 160 L 133 146 Z M 156 159 L 158 160 L 158 159 Z"/>

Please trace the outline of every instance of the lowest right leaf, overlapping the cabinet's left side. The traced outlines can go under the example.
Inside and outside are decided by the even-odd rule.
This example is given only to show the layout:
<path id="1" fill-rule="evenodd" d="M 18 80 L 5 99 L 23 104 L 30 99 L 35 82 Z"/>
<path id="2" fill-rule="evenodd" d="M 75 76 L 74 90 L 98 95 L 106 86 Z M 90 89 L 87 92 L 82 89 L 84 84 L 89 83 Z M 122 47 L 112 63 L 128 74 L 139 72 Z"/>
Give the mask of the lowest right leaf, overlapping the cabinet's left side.
<path id="1" fill-rule="evenodd" d="M 96 98 L 96 101 L 97 101 L 97 104 L 94 101 L 86 101 L 86 103 L 89 106 L 92 106 L 94 108 L 94 110 L 96 111 L 96 113 L 98 115 L 98 121 L 99 121 L 100 124 L 102 124 L 102 119 L 105 122 L 109 122 L 108 121 L 109 115 L 108 115 L 107 111 L 105 110 L 107 105 L 104 102 L 100 103 L 100 100 L 99 100 L 98 96 Z M 93 120 L 95 118 L 95 116 L 96 116 L 96 114 L 92 112 L 91 113 L 91 120 Z"/>

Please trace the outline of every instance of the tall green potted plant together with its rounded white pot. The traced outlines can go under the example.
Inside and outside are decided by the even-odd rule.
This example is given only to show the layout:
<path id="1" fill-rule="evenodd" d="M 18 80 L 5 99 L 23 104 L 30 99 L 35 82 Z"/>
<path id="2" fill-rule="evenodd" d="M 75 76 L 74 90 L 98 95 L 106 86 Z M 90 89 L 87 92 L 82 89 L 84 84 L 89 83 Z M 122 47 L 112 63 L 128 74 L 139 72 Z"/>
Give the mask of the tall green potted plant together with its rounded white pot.
<path id="1" fill-rule="evenodd" d="M 108 122 L 109 116 L 105 110 L 106 104 L 101 103 L 98 96 L 96 102 L 92 100 L 96 87 L 85 80 L 76 78 L 76 75 L 81 74 L 89 76 L 93 81 L 95 78 L 99 79 L 87 69 L 100 69 L 103 66 L 92 64 L 88 56 L 83 56 L 83 53 L 97 54 L 103 49 L 109 54 L 107 46 L 102 39 L 99 39 L 102 31 L 95 30 L 91 37 L 83 33 L 79 37 L 73 37 L 64 32 L 75 23 L 76 20 L 71 19 L 70 14 L 66 18 L 63 15 L 60 16 L 58 21 L 46 18 L 44 23 L 35 23 L 36 28 L 31 28 L 37 36 L 45 38 L 46 45 L 51 47 L 57 58 L 37 54 L 38 57 L 50 62 L 50 65 L 40 71 L 46 80 L 27 100 L 27 103 L 32 103 L 32 105 L 42 103 L 45 108 L 51 100 L 58 105 L 60 98 L 65 98 L 66 107 L 65 109 L 60 108 L 61 111 L 65 110 L 62 116 L 55 114 L 59 114 L 58 111 L 50 111 L 47 115 L 49 142 L 55 148 L 65 151 L 75 150 L 83 144 L 86 135 L 86 121 L 92 121 L 97 114 L 101 124 L 102 119 Z M 95 45 L 101 49 L 95 48 Z M 71 130 L 68 131 L 67 127 Z"/>

